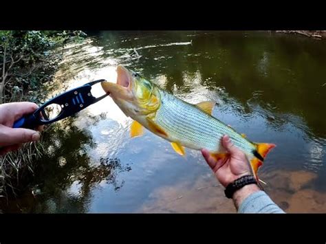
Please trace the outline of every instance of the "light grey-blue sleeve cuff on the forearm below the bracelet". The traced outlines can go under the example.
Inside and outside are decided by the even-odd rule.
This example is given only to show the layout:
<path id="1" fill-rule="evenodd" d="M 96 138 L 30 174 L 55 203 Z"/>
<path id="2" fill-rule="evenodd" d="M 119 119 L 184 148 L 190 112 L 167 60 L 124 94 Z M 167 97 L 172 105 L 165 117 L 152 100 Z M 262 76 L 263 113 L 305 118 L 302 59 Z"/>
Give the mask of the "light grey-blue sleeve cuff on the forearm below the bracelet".
<path id="1" fill-rule="evenodd" d="M 283 214 L 283 210 L 277 206 L 270 197 L 263 191 L 252 193 L 243 200 L 238 210 L 239 213 L 274 213 Z"/>

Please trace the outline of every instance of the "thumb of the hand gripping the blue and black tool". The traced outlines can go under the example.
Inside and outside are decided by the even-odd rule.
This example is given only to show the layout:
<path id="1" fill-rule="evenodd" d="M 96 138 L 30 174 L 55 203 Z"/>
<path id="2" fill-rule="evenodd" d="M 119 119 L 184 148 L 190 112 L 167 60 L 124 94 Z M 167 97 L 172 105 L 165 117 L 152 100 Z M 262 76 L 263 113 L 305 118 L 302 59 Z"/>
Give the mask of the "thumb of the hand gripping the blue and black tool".
<path id="1" fill-rule="evenodd" d="M 14 129 L 7 126 L 1 126 L 0 134 L 1 146 L 35 142 L 40 139 L 40 134 L 37 131 L 23 128 Z"/>

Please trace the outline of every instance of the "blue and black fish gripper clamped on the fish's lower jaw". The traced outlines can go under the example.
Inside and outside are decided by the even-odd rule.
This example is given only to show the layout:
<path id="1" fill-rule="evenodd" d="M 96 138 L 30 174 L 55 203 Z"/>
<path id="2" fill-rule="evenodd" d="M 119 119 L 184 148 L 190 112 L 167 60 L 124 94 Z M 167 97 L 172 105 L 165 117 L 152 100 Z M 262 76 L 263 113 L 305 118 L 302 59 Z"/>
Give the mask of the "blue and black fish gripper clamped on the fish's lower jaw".
<path id="1" fill-rule="evenodd" d="M 94 80 L 81 87 L 66 91 L 61 95 L 48 100 L 33 113 L 25 115 L 23 118 L 20 118 L 14 122 L 13 128 L 34 129 L 37 126 L 51 124 L 78 113 L 79 111 L 87 108 L 89 105 L 94 104 L 95 102 L 98 102 L 109 95 L 109 93 L 106 93 L 98 98 L 92 96 L 91 86 L 102 81 L 105 80 Z M 55 118 L 50 120 L 44 109 L 51 104 L 58 104 L 61 106 L 61 111 Z M 41 115 L 43 115 L 43 118 Z"/>

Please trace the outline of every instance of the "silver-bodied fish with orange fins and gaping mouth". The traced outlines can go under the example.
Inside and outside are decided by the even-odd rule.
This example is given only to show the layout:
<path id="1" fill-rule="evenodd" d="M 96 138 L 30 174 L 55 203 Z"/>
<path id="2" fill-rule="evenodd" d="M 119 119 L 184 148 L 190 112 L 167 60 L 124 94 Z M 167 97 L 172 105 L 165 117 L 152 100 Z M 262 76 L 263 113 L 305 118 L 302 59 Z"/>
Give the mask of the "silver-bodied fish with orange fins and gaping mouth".
<path id="1" fill-rule="evenodd" d="M 245 153 L 252 174 L 259 180 L 257 171 L 275 144 L 251 142 L 246 135 L 215 118 L 213 101 L 191 104 L 123 65 L 118 65 L 116 71 L 116 83 L 103 81 L 101 86 L 124 115 L 133 119 L 131 137 L 143 135 L 145 128 L 171 142 L 173 150 L 182 156 L 186 155 L 185 148 L 206 148 L 215 159 L 226 159 L 229 155 L 221 138 L 228 135 Z"/>

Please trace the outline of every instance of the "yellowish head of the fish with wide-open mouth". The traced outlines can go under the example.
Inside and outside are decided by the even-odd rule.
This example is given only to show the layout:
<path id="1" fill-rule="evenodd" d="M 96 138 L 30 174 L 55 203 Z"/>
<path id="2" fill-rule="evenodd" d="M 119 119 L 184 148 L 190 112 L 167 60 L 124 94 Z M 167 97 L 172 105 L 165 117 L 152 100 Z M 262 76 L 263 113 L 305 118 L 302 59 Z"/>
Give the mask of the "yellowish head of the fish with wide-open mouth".
<path id="1" fill-rule="evenodd" d="M 118 65 L 117 74 L 116 83 L 104 81 L 101 85 L 127 116 L 135 118 L 157 111 L 161 101 L 155 84 L 123 65 Z"/>

